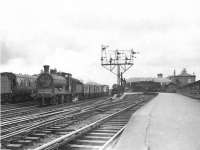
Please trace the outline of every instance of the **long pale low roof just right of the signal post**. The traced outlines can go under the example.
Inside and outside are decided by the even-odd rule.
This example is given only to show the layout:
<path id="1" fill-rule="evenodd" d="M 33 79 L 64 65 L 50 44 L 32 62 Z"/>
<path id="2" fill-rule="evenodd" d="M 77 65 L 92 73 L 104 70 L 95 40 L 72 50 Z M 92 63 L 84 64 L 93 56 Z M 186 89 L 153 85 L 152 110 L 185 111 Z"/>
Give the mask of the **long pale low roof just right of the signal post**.
<path id="1" fill-rule="evenodd" d="M 127 79 L 127 82 L 142 82 L 142 81 L 152 81 L 152 82 L 159 82 L 159 83 L 172 82 L 170 79 L 167 79 L 167 78 L 134 77 L 134 78 Z"/>

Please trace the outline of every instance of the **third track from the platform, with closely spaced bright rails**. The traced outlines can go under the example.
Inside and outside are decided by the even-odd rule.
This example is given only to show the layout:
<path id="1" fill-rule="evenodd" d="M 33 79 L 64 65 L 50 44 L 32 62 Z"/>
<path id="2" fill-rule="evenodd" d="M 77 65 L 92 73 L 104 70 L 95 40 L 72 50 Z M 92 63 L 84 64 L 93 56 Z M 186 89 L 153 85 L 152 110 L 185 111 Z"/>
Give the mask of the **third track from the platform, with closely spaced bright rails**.
<path id="1" fill-rule="evenodd" d="M 109 99 L 109 98 L 108 98 Z M 1 141 L 12 138 L 23 133 L 30 132 L 33 129 L 48 126 L 66 117 L 80 112 L 82 109 L 93 109 L 101 103 L 106 103 L 108 99 L 87 101 L 78 103 L 71 106 L 66 106 L 51 111 L 28 115 L 23 117 L 11 118 L 10 120 L 1 123 Z"/>

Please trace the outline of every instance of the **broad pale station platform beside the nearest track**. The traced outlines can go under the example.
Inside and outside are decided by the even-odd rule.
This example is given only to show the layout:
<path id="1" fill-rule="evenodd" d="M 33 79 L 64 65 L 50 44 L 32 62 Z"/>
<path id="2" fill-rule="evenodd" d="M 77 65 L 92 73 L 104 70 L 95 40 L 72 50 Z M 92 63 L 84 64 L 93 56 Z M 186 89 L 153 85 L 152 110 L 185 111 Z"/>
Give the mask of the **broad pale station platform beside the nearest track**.
<path id="1" fill-rule="evenodd" d="M 115 150 L 199 150 L 200 101 L 160 93 L 129 120 Z"/>

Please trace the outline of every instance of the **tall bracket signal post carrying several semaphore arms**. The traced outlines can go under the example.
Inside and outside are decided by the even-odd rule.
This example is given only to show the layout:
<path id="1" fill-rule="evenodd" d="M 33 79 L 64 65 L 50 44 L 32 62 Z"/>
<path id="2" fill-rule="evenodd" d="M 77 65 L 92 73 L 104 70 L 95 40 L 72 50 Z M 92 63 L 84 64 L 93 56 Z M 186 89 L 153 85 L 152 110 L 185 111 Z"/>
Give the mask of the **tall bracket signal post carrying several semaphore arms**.
<path id="1" fill-rule="evenodd" d="M 117 84 L 122 85 L 123 74 L 130 69 L 134 63 L 135 52 L 130 50 L 107 50 L 109 46 L 101 46 L 101 65 L 110 72 L 117 75 Z"/>

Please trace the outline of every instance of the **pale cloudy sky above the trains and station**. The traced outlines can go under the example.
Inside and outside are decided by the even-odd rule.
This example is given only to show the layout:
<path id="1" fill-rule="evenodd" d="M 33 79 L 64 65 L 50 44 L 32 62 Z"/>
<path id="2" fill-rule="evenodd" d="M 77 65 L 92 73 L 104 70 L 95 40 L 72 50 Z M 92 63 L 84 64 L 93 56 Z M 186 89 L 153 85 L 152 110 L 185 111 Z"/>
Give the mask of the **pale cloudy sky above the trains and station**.
<path id="1" fill-rule="evenodd" d="M 0 72 L 44 64 L 84 82 L 113 84 L 101 45 L 139 54 L 124 75 L 164 77 L 183 68 L 200 79 L 200 9 L 193 0 L 0 0 Z"/>

